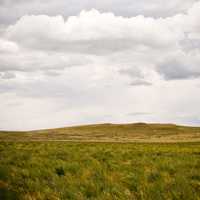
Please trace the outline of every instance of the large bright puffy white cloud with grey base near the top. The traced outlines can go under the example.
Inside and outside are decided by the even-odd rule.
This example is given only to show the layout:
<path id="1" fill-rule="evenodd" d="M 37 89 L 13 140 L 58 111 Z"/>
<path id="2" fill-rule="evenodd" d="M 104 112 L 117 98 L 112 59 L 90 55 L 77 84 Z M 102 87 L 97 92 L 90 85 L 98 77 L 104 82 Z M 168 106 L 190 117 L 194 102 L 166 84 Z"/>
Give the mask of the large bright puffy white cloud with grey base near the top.
<path id="1" fill-rule="evenodd" d="M 25 47 L 90 54 L 140 46 L 167 48 L 183 36 L 171 30 L 164 19 L 117 17 L 94 9 L 66 21 L 61 16 L 23 16 L 7 29 L 7 37 Z"/>

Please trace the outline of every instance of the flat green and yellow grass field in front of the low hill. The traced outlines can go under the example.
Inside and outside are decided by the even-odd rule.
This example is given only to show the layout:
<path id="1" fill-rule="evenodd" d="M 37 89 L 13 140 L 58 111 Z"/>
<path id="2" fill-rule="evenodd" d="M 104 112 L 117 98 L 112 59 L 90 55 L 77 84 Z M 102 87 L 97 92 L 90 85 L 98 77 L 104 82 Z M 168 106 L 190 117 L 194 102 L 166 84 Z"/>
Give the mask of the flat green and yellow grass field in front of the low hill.
<path id="1" fill-rule="evenodd" d="M 0 199 L 200 199 L 200 143 L 0 142 Z"/>

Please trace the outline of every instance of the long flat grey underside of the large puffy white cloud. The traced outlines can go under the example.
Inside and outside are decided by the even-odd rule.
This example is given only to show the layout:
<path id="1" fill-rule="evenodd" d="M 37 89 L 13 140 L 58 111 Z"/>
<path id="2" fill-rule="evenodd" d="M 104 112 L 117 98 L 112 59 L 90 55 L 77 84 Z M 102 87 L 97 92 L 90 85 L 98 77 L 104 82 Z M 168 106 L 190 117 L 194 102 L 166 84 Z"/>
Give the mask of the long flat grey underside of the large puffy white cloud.
<path id="1" fill-rule="evenodd" d="M 133 43 L 135 43 L 133 45 Z M 80 53 L 80 54 L 93 54 L 105 55 L 116 53 L 131 48 L 137 48 L 137 42 L 129 39 L 101 39 L 101 40 L 85 40 L 85 41 L 52 41 L 52 40 L 37 40 L 21 43 L 25 47 L 32 49 L 39 49 L 42 51 L 52 52 L 66 52 L 66 53 Z"/>

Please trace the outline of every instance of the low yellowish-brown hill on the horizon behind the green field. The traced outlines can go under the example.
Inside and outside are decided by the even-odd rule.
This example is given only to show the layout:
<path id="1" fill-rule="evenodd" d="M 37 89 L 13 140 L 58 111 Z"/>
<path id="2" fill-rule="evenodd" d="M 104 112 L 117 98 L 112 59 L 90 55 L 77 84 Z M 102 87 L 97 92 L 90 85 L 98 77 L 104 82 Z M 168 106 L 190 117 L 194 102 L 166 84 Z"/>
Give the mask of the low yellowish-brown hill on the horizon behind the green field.
<path id="1" fill-rule="evenodd" d="M 27 132 L 0 131 L 0 141 L 200 142 L 200 127 L 106 123 Z"/>

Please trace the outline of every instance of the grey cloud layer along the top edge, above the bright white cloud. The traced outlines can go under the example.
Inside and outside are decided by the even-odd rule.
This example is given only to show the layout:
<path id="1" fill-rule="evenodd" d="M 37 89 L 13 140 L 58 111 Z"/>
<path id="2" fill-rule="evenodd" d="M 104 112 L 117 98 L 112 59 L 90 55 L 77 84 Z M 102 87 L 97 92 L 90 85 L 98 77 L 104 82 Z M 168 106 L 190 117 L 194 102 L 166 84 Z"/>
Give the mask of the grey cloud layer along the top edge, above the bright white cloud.
<path id="1" fill-rule="evenodd" d="M 101 12 L 113 12 L 118 16 L 166 17 L 184 12 L 196 0 L 1 0 L 0 23 L 10 24 L 25 14 L 77 15 L 81 10 L 95 8 Z"/>

